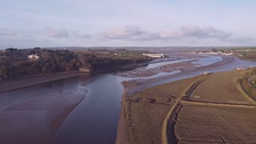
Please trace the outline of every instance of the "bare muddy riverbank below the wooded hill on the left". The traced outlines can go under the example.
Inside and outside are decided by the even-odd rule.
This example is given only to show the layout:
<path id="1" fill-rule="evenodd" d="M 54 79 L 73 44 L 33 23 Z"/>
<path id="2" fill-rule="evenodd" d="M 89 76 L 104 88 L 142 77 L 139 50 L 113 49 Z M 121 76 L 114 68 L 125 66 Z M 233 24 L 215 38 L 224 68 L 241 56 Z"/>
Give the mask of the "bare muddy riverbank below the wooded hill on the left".
<path id="1" fill-rule="evenodd" d="M 45 82 L 52 82 L 62 78 L 70 78 L 78 75 L 87 75 L 89 77 L 89 74 L 85 72 L 67 72 L 59 74 L 36 75 L 23 78 L 11 78 L 0 82 L 0 94 L 11 90 L 19 90 L 29 86 L 34 86 Z"/>

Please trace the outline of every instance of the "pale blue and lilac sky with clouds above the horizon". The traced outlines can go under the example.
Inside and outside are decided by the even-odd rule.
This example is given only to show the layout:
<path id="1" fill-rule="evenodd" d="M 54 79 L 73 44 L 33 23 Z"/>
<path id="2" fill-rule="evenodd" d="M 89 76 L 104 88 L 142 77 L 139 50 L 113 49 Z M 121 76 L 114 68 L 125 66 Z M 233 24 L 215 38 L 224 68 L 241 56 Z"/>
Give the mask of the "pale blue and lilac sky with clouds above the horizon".
<path id="1" fill-rule="evenodd" d="M 1 0 L 0 49 L 256 46 L 254 0 Z"/>

